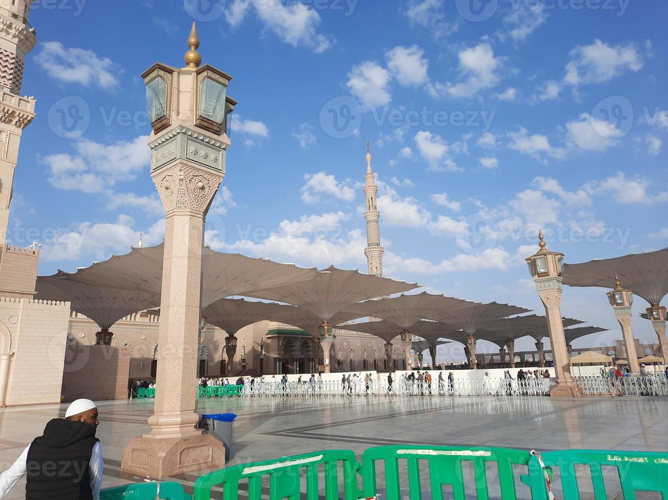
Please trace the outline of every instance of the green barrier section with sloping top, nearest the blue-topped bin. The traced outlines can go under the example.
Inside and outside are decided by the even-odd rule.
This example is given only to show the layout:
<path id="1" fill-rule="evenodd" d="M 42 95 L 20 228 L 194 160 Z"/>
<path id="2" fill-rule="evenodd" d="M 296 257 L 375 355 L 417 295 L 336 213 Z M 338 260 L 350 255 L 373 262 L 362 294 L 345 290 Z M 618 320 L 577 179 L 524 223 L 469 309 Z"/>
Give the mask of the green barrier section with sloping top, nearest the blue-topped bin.
<path id="1" fill-rule="evenodd" d="M 343 477 L 339 477 L 339 463 L 343 469 Z M 262 479 L 265 475 L 269 475 L 270 500 L 301 500 L 302 477 L 306 478 L 306 499 L 318 500 L 320 465 L 324 466 L 326 500 L 359 498 L 359 464 L 355 461 L 355 454 L 349 450 L 327 450 L 266 462 L 233 465 L 203 475 L 195 483 L 194 500 L 210 500 L 212 488 L 221 486 L 223 500 L 237 500 L 239 482 L 246 479 L 248 499 L 260 499 L 263 497 Z M 343 482 L 343 497 L 339 497 L 339 479 Z"/>

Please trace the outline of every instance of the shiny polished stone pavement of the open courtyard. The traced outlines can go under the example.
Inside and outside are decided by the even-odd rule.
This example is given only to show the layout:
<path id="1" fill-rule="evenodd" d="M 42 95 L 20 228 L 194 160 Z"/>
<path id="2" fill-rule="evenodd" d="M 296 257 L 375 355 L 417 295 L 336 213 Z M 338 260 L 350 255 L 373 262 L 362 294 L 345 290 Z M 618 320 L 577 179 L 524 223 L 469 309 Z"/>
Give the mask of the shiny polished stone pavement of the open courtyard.
<path id="1" fill-rule="evenodd" d="M 5 470 L 66 405 L 0 409 L 0 469 Z M 99 404 L 104 486 L 144 478 L 120 471 L 124 446 L 150 430 L 152 400 Z M 595 448 L 668 450 L 668 398 L 335 397 L 200 399 L 200 413 L 232 412 L 232 463 L 320 449 L 374 445 L 506 446 L 541 451 Z M 186 487 L 196 475 L 178 477 Z M 6 499 L 24 497 L 21 481 Z"/>

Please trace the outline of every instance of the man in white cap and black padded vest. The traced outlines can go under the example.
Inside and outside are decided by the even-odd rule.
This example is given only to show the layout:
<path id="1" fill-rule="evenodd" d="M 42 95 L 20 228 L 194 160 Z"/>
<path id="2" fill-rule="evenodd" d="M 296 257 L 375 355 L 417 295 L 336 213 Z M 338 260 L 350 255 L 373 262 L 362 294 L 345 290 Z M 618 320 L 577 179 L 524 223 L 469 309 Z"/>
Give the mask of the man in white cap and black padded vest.
<path id="1" fill-rule="evenodd" d="M 52 419 L 9 469 L 0 475 L 0 499 L 23 477 L 26 500 L 99 500 L 102 448 L 100 421 L 90 399 L 77 399 L 64 419 Z"/>

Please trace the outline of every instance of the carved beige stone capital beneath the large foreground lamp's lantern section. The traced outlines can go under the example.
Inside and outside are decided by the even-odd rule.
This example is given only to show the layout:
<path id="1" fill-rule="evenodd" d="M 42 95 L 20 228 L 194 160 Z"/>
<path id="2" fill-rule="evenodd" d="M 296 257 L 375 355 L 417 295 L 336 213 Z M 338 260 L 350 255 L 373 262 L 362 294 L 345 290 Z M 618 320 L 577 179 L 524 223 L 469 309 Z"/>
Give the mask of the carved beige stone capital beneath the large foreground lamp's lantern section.
<path id="1" fill-rule="evenodd" d="M 154 175 L 153 181 L 166 212 L 191 209 L 206 213 L 222 177 L 177 164 Z"/>

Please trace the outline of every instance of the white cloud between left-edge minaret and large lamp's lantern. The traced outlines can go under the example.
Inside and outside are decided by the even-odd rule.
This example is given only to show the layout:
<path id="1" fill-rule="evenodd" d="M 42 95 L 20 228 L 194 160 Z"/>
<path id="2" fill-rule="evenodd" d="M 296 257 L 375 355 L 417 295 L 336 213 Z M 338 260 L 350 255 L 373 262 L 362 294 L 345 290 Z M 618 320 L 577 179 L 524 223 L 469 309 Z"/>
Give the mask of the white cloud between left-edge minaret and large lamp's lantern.
<path id="1" fill-rule="evenodd" d="M 49 77 L 105 90 L 120 87 L 118 75 L 123 73 L 123 69 L 108 57 L 100 57 L 86 49 L 67 49 L 57 41 L 47 41 L 40 45 L 42 49 L 35 57 L 35 62 Z"/>

